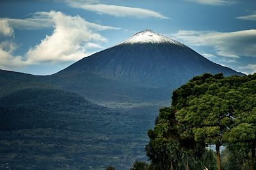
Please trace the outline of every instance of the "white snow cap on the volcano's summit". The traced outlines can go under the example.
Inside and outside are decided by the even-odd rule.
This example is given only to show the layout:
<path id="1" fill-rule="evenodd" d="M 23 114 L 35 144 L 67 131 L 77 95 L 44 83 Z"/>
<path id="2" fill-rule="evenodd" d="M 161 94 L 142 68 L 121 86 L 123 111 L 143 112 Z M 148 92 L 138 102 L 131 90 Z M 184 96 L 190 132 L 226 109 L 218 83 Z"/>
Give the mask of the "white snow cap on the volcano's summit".
<path id="1" fill-rule="evenodd" d="M 167 36 L 159 35 L 149 29 L 136 33 L 131 38 L 125 40 L 121 44 L 134 44 L 134 43 L 173 43 L 175 45 L 183 46 L 182 43 L 172 40 Z"/>

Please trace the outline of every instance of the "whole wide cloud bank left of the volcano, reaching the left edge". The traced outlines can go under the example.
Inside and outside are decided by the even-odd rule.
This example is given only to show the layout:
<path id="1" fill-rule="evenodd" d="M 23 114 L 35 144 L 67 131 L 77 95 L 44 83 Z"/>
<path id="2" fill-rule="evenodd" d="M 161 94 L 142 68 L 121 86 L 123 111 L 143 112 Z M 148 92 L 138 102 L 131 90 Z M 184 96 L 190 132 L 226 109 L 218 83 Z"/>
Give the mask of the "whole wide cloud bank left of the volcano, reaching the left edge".
<path id="1" fill-rule="evenodd" d="M 3 22 L 4 20 L 4 22 Z M 77 61 L 92 54 L 93 49 L 101 49 L 101 43 L 108 42 L 98 31 L 119 29 L 91 23 L 79 16 L 72 17 L 61 12 L 36 12 L 29 19 L 0 19 L 10 30 L 41 29 L 53 27 L 52 35 L 45 38 L 24 54 L 15 56 L 17 45 L 12 42 L 0 43 L 0 68 L 17 68 L 41 63 Z M 11 27 L 12 26 L 12 27 Z M 15 69 L 13 69 L 15 70 Z"/>

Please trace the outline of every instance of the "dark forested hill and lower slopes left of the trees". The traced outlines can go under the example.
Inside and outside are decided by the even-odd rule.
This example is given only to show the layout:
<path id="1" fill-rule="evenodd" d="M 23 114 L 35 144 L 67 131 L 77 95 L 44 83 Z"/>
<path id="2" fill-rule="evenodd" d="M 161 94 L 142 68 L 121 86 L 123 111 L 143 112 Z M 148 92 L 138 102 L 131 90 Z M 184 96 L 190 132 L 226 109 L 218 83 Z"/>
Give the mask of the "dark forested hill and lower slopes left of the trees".
<path id="1" fill-rule="evenodd" d="M 0 169 L 106 169 L 109 161 L 128 169 L 144 155 L 143 110 L 136 116 L 61 89 L 9 93 L 0 98 Z"/>

